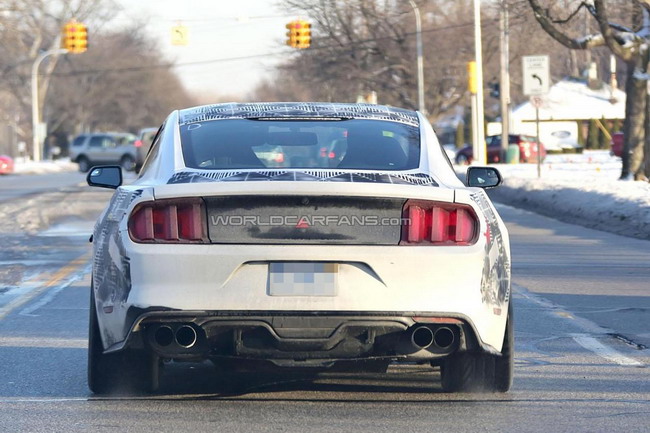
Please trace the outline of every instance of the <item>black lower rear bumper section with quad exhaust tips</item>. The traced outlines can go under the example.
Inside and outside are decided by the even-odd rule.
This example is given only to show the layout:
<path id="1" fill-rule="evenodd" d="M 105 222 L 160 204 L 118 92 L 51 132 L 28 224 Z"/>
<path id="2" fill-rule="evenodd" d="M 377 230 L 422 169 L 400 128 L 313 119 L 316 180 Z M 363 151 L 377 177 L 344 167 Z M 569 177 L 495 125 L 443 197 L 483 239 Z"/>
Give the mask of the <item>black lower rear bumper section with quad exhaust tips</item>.
<path id="1" fill-rule="evenodd" d="M 123 344 L 175 360 L 238 359 L 277 366 L 339 361 L 433 361 L 485 350 L 467 318 L 357 312 L 150 311 Z M 489 350 L 493 352 L 492 350 Z"/>

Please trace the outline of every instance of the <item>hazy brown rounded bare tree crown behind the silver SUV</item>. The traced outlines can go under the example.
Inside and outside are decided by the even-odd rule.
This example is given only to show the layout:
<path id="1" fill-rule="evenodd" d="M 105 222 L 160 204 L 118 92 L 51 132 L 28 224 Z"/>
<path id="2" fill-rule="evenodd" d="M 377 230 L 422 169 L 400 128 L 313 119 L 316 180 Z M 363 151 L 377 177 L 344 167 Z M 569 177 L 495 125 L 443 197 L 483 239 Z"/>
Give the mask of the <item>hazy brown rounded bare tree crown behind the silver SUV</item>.
<path id="1" fill-rule="evenodd" d="M 50 129 L 137 131 L 192 105 L 173 65 L 161 60 L 160 49 L 142 28 L 134 24 L 97 35 L 84 55 L 59 62 L 45 113 Z"/>

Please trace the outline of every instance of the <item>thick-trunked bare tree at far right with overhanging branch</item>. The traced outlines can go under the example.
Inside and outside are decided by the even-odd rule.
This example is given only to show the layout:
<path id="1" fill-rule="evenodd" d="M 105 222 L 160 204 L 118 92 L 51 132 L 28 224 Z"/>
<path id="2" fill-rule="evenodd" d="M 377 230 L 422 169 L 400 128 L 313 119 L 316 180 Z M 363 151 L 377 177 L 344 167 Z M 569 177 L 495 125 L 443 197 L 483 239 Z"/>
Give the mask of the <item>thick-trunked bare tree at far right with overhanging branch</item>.
<path id="1" fill-rule="evenodd" d="M 551 9 L 543 8 L 538 0 L 528 1 L 542 28 L 565 47 L 572 50 L 589 50 L 606 46 L 626 63 L 625 93 L 627 100 L 623 124 L 625 143 L 621 178 L 627 179 L 634 176 L 637 180 L 648 180 L 650 152 L 644 152 L 644 147 L 650 147 L 650 126 L 648 126 L 650 101 L 646 91 L 649 77 L 650 1 L 583 1 L 563 19 L 553 18 Z M 612 20 L 607 7 L 608 3 L 618 6 L 618 16 L 615 20 Z M 596 21 L 598 31 L 582 36 L 571 35 L 561 26 L 574 19 L 583 8 Z"/>

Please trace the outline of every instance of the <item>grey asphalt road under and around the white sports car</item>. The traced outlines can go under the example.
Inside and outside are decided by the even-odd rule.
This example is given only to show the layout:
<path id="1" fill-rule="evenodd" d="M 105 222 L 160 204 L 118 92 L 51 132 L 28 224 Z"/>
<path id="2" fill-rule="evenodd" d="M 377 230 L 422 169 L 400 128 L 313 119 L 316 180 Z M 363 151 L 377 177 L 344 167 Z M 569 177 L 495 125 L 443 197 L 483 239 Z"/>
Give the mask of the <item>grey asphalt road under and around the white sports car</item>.
<path id="1" fill-rule="evenodd" d="M 67 191 L 97 209 L 109 196 Z M 417 366 L 309 377 L 172 364 L 158 395 L 94 397 L 91 218 L 62 214 L 36 234 L 0 233 L 0 431 L 647 431 L 650 242 L 499 209 L 514 258 L 507 394 L 446 394 L 437 371 Z"/>

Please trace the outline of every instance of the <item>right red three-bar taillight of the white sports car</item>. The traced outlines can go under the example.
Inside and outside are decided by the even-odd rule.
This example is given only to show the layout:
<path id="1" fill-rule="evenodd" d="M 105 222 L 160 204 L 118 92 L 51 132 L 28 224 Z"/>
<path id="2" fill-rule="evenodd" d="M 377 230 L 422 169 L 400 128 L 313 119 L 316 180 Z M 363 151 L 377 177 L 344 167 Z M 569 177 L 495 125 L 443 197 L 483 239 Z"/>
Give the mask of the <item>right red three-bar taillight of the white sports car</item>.
<path id="1" fill-rule="evenodd" d="M 400 245 L 470 245 L 478 219 L 470 206 L 408 200 L 404 205 Z"/>

